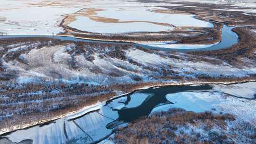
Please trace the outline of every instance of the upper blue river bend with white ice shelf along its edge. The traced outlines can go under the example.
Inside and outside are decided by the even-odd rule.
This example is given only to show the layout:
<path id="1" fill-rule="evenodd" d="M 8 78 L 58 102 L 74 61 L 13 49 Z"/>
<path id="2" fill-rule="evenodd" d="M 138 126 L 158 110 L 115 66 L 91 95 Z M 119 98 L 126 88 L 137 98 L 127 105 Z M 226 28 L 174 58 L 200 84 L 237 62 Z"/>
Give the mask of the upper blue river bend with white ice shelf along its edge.
<path id="1" fill-rule="evenodd" d="M 91 43 L 106 43 L 106 44 L 130 44 L 130 45 L 137 45 L 142 46 L 144 48 L 149 49 L 157 49 L 157 50 L 163 50 L 163 51 L 205 51 L 205 50 L 215 50 L 215 49 L 222 49 L 229 46 L 232 46 L 236 43 L 238 43 L 238 36 L 234 32 L 232 32 L 233 27 L 227 27 L 224 26 L 221 28 L 221 35 L 219 34 L 219 38 L 213 38 L 216 42 L 214 44 L 192 44 L 193 42 L 185 41 L 183 39 L 183 42 L 178 42 L 180 40 L 176 40 L 173 42 L 166 42 L 166 41 L 126 41 L 126 40 L 108 40 L 108 39 L 94 39 L 94 38 L 86 38 L 86 37 L 78 37 L 78 36 L 72 36 L 72 35 L 3 35 L 0 36 L 0 38 L 22 38 L 22 37 L 47 37 L 47 38 L 55 38 L 60 39 L 62 41 L 81 41 L 81 42 L 91 42 Z M 176 35 L 176 34 L 175 34 Z M 215 33 L 213 33 L 215 35 Z M 217 36 L 217 35 L 216 35 Z"/>

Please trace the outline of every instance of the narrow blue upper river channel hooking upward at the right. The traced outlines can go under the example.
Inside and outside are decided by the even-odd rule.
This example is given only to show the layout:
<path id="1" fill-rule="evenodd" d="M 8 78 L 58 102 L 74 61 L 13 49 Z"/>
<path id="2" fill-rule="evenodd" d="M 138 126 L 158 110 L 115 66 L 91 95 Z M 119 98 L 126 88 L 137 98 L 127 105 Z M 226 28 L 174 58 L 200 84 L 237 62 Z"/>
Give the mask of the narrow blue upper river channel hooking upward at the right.
<path id="1" fill-rule="evenodd" d="M 149 49 L 157 49 L 162 51 L 179 51 L 179 52 L 189 52 L 189 51 L 207 51 L 207 50 L 218 50 L 227 48 L 229 46 L 232 46 L 234 44 L 238 43 L 238 35 L 232 31 L 234 27 L 228 27 L 224 25 L 221 29 L 221 41 L 214 45 L 184 45 L 184 44 L 168 44 L 168 42 L 165 42 L 161 45 L 155 45 L 153 44 L 134 44 L 139 45 L 145 48 Z M 0 38 L 21 38 L 21 37 L 48 37 L 48 38 L 57 38 L 60 40 L 69 40 L 69 41 L 81 41 L 81 42 L 89 42 L 89 43 L 108 43 L 108 44 L 128 44 L 125 42 L 110 42 L 110 41 L 96 41 L 96 40 L 89 40 L 89 39 L 83 39 L 83 38 L 77 38 L 73 36 L 51 36 L 51 35 L 3 35 L 0 36 Z M 171 48 L 166 48 L 171 47 Z"/>

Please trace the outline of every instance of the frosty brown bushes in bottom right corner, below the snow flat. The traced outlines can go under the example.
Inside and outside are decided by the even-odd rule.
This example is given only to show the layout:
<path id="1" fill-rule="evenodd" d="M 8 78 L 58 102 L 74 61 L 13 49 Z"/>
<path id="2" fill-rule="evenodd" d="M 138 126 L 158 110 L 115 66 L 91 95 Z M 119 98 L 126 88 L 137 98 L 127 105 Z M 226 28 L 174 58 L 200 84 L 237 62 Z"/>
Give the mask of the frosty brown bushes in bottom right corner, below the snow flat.
<path id="1" fill-rule="evenodd" d="M 248 123 L 236 129 L 235 123 L 229 114 L 173 108 L 141 117 L 121 128 L 112 140 L 115 144 L 254 144 L 255 126 Z"/>

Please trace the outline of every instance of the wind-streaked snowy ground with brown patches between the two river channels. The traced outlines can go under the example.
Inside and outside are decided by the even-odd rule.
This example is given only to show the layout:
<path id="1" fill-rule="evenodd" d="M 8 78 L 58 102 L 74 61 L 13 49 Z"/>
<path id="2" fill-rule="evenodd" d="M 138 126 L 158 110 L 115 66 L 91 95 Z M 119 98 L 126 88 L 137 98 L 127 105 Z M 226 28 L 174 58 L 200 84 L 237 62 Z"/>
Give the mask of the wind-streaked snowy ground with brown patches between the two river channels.
<path id="1" fill-rule="evenodd" d="M 13 47 L 13 49 L 18 50 L 17 47 Z M 22 47 L 22 49 L 24 49 L 24 47 Z M 99 48 L 91 47 L 91 49 L 97 51 Z M 101 53 L 93 54 L 93 62 L 88 61 L 84 54 L 77 54 L 72 60 L 72 54 L 68 54 L 65 50 L 71 51 L 76 50 L 76 48 L 74 48 L 74 44 L 71 43 L 70 45 L 56 45 L 32 49 L 26 54 L 21 54 L 23 60 L 27 62 L 28 65 L 20 63 L 17 60 L 9 61 L 8 63 L 4 61 L 3 64 L 8 71 L 18 72 L 16 81 L 19 83 L 38 82 L 41 80 L 55 81 L 61 78 L 61 80 L 65 82 L 99 85 L 110 84 L 113 81 L 119 83 L 123 81 L 135 82 L 132 79 L 134 76 L 140 76 L 144 81 L 151 81 L 151 75 L 160 75 L 159 66 L 167 67 L 168 65 L 173 66 L 172 71 L 178 72 L 179 75 L 186 75 L 187 77 L 194 77 L 196 75 L 208 75 L 213 77 L 235 75 L 236 77 L 243 77 L 256 71 L 256 68 L 239 69 L 224 62 L 214 64 L 200 60 L 193 62 L 186 61 L 189 55 L 183 55 L 182 53 L 174 54 L 174 56 L 184 59 L 181 61 L 176 58 L 161 57 L 158 54 L 146 53 L 133 47 L 128 51 L 124 51 L 126 53 L 125 55 L 128 59 L 141 63 L 144 66 L 137 66 L 133 63 L 129 63 L 128 60 L 124 61 L 109 56 L 100 58 L 99 55 L 101 55 Z M 109 49 L 107 51 L 113 50 L 114 49 Z M 107 51 L 102 53 L 108 53 Z M 218 59 L 208 59 L 219 63 Z M 69 62 L 71 60 L 78 67 L 77 70 L 70 69 Z M 150 66 L 157 71 L 146 69 L 146 66 Z M 94 73 L 93 70 L 95 69 L 101 70 L 101 73 Z M 116 72 L 120 74 L 120 76 L 112 77 L 109 75 L 110 72 Z"/>

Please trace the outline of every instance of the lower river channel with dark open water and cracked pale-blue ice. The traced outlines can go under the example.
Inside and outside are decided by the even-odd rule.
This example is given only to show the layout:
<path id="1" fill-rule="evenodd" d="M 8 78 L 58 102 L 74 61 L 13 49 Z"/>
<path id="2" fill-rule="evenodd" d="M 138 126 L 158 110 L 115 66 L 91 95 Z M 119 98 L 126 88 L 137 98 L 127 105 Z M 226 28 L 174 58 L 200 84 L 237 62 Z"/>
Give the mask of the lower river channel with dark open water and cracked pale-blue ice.
<path id="1" fill-rule="evenodd" d="M 233 90 L 231 89 L 234 87 L 236 87 L 236 89 L 245 90 L 247 86 L 250 88 L 253 87 L 250 90 L 256 90 L 255 82 L 247 82 L 239 86 L 234 85 L 229 87 L 230 90 L 227 90 L 232 92 Z M 218 90 L 216 89 L 217 87 L 219 87 Z M 196 108 L 195 111 L 197 112 L 200 112 L 200 110 L 198 111 L 199 108 L 201 108 L 202 111 L 215 108 L 217 107 L 217 103 L 221 102 L 219 99 L 223 99 L 221 95 L 224 92 L 221 90 L 221 87 L 227 87 L 227 85 L 182 85 L 137 90 L 85 108 L 78 113 L 70 114 L 42 125 L 17 130 L 2 135 L 2 137 L 6 137 L 16 143 L 23 142 L 22 144 L 98 143 L 111 135 L 117 127 L 126 126 L 128 122 L 134 121 L 138 117 L 148 116 L 152 111 L 165 109 L 166 106 L 167 108 L 175 108 L 178 107 L 177 104 L 180 103 L 180 107 L 184 107 L 185 109 L 191 108 L 192 110 Z M 247 91 L 248 90 L 249 89 L 247 89 Z M 184 93 L 188 93 L 189 96 L 194 93 L 210 94 L 207 97 L 210 99 L 214 98 L 215 100 L 209 103 L 210 100 L 208 98 L 202 101 L 202 99 L 196 99 L 196 97 L 185 97 L 186 95 L 184 95 Z M 242 99 L 242 101 L 254 100 L 254 98 L 237 98 L 231 94 L 229 97 L 232 99 Z M 188 101 L 188 99 L 190 101 Z M 225 98 L 223 101 L 229 100 Z M 216 112 L 219 112 L 218 107 Z"/>

